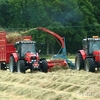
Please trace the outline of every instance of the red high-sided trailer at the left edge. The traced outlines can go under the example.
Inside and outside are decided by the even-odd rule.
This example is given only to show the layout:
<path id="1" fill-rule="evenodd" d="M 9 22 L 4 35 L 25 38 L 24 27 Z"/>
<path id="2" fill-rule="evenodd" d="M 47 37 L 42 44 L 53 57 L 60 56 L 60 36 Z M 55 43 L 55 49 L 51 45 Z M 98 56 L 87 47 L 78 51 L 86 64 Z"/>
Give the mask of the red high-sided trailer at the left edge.
<path id="1" fill-rule="evenodd" d="M 6 70 L 10 54 L 15 52 L 14 44 L 7 44 L 6 32 L 0 32 L 0 69 Z"/>

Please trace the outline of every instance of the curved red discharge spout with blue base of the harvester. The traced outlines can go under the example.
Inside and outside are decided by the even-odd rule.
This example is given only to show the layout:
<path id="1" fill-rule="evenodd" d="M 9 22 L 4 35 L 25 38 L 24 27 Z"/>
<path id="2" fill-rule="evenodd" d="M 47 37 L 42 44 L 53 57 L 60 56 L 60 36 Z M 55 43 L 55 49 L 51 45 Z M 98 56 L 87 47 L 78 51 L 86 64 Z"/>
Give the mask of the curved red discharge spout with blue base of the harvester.
<path id="1" fill-rule="evenodd" d="M 49 33 L 49 34 L 52 35 L 56 40 L 59 40 L 60 45 L 61 45 L 61 49 L 60 49 L 61 53 L 60 53 L 60 51 L 59 51 L 56 55 L 54 55 L 54 56 L 52 57 L 52 59 L 55 59 L 55 58 L 64 59 L 64 60 L 66 60 L 66 63 L 69 65 L 69 68 L 75 69 L 75 64 L 74 64 L 72 61 L 68 60 L 68 58 L 67 58 L 67 56 L 66 56 L 67 52 L 66 52 L 66 46 L 65 46 L 65 38 L 59 36 L 59 35 L 58 35 L 57 33 L 55 33 L 55 32 L 52 32 L 52 31 L 50 31 L 50 30 L 48 30 L 48 29 L 46 29 L 46 28 L 43 28 L 43 27 L 38 27 L 37 29 L 38 29 L 38 30 L 42 30 L 42 31 L 44 31 L 44 32 L 46 32 L 46 33 Z"/>

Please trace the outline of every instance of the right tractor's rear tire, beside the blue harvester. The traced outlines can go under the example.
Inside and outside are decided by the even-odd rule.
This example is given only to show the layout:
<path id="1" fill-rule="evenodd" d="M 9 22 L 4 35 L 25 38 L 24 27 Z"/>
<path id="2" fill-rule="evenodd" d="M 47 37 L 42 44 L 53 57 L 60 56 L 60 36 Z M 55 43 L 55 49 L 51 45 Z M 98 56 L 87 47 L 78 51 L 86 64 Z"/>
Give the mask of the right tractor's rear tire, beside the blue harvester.
<path id="1" fill-rule="evenodd" d="M 76 54 L 76 58 L 75 58 L 75 68 L 76 70 L 81 70 L 82 68 L 84 68 L 84 61 L 83 58 L 81 56 L 80 53 Z"/>

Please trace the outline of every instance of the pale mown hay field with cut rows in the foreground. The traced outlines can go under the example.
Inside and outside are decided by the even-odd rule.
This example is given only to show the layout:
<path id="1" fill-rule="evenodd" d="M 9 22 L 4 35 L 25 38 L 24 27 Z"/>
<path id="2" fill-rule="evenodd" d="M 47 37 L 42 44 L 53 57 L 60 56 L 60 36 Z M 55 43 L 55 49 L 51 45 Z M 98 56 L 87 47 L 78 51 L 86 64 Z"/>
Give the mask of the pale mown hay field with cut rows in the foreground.
<path id="1" fill-rule="evenodd" d="M 63 68 L 48 73 L 0 71 L 0 100 L 100 100 L 100 72 Z"/>

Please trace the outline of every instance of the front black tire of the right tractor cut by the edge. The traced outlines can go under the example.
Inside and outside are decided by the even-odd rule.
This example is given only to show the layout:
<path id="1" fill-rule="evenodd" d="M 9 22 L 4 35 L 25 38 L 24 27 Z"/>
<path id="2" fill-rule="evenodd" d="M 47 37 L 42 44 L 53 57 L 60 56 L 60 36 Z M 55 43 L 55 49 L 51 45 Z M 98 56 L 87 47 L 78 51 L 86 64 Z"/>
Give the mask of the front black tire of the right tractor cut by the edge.
<path id="1" fill-rule="evenodd" d="M 87 72 L 95 72 L 95 65 L 93 58 L 87 58 L 85 60 L 85 70 Z"/>

